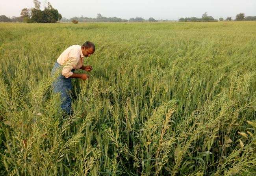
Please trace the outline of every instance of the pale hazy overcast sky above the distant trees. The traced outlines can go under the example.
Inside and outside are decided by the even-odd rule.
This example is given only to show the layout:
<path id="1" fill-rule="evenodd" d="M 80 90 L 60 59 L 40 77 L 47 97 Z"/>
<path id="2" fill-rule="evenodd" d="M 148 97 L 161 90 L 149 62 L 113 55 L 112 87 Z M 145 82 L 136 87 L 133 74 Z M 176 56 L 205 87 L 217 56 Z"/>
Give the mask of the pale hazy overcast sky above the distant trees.
<path id="1" fill-rule="evenodd" d="M 39 0 L 40 1 L 40 0 Z M 45 0 L 41 0 L 41 8 Z M 178 20 L 180 17 L 201 17 L 204 12 L 214 19 L 256 16 L 256 0 L 49 0 L 62 17 L 93 17 L 97 13 L 104 17 L 130 19 Z M 0 15 L 20 16 L 23 8 L 33 7 L 33 0 L 0 0 Z"/>

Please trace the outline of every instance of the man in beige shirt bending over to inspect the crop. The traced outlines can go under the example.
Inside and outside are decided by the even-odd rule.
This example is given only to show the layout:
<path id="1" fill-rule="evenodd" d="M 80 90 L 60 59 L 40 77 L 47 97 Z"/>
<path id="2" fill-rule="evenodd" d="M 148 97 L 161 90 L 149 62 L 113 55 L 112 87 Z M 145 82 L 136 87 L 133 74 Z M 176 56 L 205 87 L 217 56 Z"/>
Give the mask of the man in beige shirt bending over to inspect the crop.
<path id="1" fill-rule="evenodd" d="M 63 66 L 61 74 L 52 84 L 53 92 L 60 93 L 61 96 L 61 109 L 68 115 L 72 114 L 71 98 L 69 92 L 71 91 L 72 84 L 70 78 L 81 78 L 87 80 L 89 75 L 74 73 L 76 69 L 82 69 L 87 72 L 92 70 L 90 65 L 83 65 L 83 57 L 89 57 L 95 52 L 95 45 L 89 41 L 85 42 L 82 46 L 72 45 L 64 50 L 58 57 L 57 62 L 52 69 L 52 75 L 61 66 Z"/>

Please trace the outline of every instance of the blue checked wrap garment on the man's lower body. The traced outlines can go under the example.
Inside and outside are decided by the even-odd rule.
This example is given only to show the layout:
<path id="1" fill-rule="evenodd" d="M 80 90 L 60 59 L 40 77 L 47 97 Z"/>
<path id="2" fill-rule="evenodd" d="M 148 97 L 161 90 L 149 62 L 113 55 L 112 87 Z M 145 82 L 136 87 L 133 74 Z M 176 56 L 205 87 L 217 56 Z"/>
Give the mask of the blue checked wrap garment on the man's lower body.
<path id="1" fill-rule="evenodd" d="M 51 76 L 59 67 L 61 67 L 61 65 L 56 62 L 52 69 Z M 71 71 L 74 72 L 75 69 Z M 60 93 L 61 109 L 63 109 L 68 115 L 70 115 L 72 113 L 70 98 L 70 93 L 72 89 L 71 78 L 65 78 L 65 76 L 60 74 L 58 78 L 52 83 L 52 87 L 54 93 Z"/>

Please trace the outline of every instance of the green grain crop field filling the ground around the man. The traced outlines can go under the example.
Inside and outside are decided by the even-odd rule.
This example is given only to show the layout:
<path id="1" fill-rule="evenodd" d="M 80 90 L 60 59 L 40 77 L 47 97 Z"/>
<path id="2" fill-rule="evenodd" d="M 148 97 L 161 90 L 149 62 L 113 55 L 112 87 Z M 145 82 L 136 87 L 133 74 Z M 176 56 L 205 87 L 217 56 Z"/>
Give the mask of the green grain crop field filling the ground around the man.
<path id="1" fill-rule="evenodd" d="M 50 72 L 85 41 L 63 117 Z M 256 174 L 256 22 L 0 23 L 0 75 L 3 175 Z"/>

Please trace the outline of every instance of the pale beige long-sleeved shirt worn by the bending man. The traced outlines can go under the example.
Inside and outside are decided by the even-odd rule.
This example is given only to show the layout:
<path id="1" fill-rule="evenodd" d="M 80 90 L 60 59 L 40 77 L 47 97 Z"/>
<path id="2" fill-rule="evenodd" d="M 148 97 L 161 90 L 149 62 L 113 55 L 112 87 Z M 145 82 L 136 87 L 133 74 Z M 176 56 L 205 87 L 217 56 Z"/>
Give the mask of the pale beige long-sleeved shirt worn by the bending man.
<path id="1" fill-rule="evenodd" d="M 58 57 L 57 62 L 64 65 L 61 74 L 65 78 L 72 76 L 72 69 L 79 69 L 83 65 L 83 53 L 80 45 L 72 45 L 65 49 Z"/>

